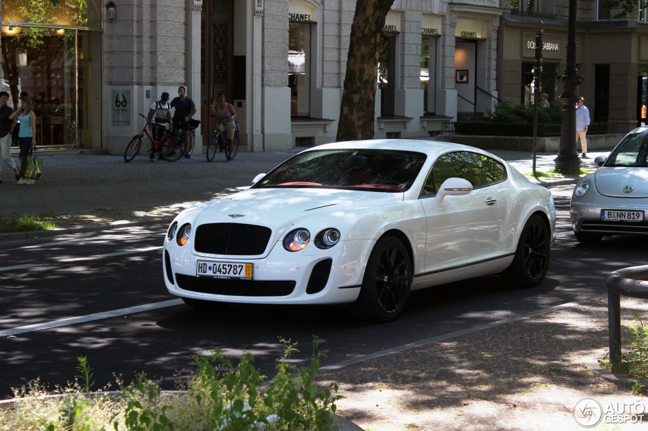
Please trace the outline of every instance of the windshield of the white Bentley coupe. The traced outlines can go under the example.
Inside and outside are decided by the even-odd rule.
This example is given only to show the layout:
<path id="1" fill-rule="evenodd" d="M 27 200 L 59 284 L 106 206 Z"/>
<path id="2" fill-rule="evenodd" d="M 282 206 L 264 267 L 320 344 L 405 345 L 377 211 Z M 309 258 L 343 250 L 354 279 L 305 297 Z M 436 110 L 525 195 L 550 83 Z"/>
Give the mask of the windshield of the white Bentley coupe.
<path id="1" fill-rule="evenodd" d="M 404 192 L 419 175 L 423 153 L 391 149 L 305 151 L 277 166 L 252 188 L 342 188 Z"/>

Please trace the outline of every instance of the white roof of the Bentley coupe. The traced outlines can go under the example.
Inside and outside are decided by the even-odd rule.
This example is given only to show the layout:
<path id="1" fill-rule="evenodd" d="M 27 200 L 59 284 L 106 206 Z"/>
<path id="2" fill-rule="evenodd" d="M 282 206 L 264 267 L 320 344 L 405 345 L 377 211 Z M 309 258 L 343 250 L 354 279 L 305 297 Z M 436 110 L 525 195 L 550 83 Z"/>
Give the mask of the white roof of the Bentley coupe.
<path id="1" fill-rule="evenodd" d="M 484 151 L 483 149 L 470 147 L 462 144 L 454 144 L 454 142 L 439 142 L 435 140 L 422 140 L 422 139 L 371 139 L 371 140 L 351 140 L 345 142 L 332 142 L 330 144 L 322 144 L 316 147 L 307 149 L 306 151 L 314 151 L 319 149 L 395 149 L 399 151 L 417 151 L 425 153 L 430 157 L 436 158 L 437 156 L 453 150 L 468 150 L 477 153 L 487 154 L 495 159 L 499 159 Z"/>

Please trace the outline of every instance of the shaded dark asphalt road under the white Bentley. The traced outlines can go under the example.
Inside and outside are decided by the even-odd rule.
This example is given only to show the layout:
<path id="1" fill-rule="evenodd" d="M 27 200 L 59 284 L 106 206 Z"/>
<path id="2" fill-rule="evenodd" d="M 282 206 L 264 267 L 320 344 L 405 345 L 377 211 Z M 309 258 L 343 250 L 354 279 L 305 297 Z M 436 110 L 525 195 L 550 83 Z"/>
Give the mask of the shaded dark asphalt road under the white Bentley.
<path id="1" fill-rule="evenodd" d="M 272 377 L 283 353 L 280 337 L 297 342 L 297 364 L 310 356 L 313 336 L 323 339 L 326 366 L 601 296 L 609 272 L 645 264 L 645 238 L 578 245 L 567 214 L 571 188 L 552 190 L 561 234 L 539 287 L 515 290 L 499 276 L 487 276 L 417 291 L 404 315 L 389 324 L 355 321 L 342 307 L 231 305 L 213 315 L 178 304 L 162 280 L 166 225 L 1 243 L 0 399 L 37 378 L 51 387 L 73 381 L 80 355 L 95 369 L 95 388 L 113 384 L 114 389 L 115 375 L 130 382 L 145 371 L 161 379 L 164 389 L 174 389 L 176 375 L 194 370 L 193 355 L 215 349 L 233 356 L 251 351 Z M 168 305 L 170 300 L 176 301 Z M 157 305 L 136 308 L 146 304 Z M 80 319 L 56 323 L 75 317 Z"/>

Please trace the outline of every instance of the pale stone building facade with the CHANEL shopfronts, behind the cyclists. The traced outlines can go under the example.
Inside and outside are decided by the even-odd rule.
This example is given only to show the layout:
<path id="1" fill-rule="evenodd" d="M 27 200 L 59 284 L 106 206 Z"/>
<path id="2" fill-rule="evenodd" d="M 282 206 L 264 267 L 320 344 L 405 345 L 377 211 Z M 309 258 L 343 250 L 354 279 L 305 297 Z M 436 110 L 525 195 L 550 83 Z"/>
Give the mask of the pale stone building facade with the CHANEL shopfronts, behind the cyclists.
<path id="1" fill-rule="evenodd" d="M 34 1 L 44 14 L 16 12 Z M 335 140 L 355 1 L 78 3 L 65 15 L 49 0 L 1 1 L 3 85 L 38 103 L 42 144 L 122 153 L 139 114 L 179 85 L 202 137 L 214 127 L 211 100 L 226 91 L 248 151 Z M 381 40 L 375 137 L 438 133 L 491 109 L 501 16 L 500 0 L 396 0 Z M 42 43 L 23 49 L 34 29 Z"/>

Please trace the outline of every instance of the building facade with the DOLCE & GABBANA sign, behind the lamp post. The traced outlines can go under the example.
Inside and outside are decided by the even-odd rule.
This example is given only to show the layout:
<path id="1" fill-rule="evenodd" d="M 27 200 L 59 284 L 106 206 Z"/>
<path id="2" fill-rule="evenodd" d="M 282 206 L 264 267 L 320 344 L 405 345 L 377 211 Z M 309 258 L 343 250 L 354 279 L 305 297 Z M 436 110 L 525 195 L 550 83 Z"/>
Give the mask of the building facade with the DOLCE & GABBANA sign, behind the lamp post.
<path id="1" fill-rule="evenodd" d="M 603 0 L 578 2 L 576 63 L 584 80 L 578 93 L 585 98 L 592 122 L 612 122 L 625 133 L 645 124 L 648 91 L 647 3 L 626 17 L 605 8 Z M 498 43 L 498 93 L 514 104 L 533 101 L 539 85 L 555 103 L 562 93 L 559 78 L 566 67 L 568 0 L 520 2 L 504 0 Z M 543 68 L 533 78 L 535 32 L 544 23 Z"/>

